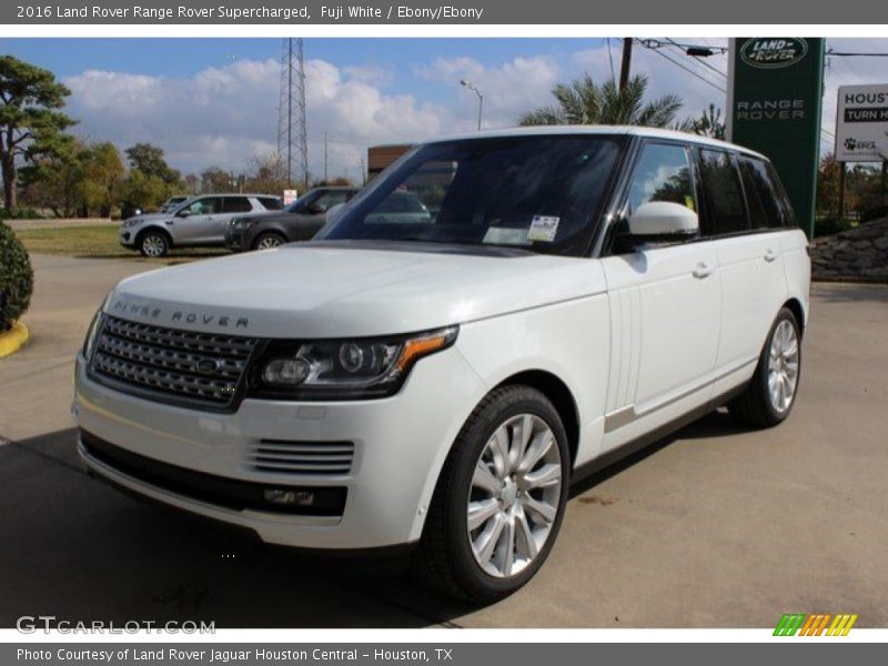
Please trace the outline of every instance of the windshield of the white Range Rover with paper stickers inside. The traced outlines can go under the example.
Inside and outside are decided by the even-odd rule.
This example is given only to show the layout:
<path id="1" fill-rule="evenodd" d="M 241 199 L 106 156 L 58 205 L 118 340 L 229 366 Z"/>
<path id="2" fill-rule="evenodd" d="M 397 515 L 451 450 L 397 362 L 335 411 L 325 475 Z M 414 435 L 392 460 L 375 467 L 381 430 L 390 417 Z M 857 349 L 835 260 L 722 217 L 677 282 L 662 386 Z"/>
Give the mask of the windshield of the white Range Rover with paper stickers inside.
<path id="1" fill-rule="evenodd" d="M 430 143 L 357 194 L 319 236 L 585 252 L 620 138 L 506 137 Z"/>

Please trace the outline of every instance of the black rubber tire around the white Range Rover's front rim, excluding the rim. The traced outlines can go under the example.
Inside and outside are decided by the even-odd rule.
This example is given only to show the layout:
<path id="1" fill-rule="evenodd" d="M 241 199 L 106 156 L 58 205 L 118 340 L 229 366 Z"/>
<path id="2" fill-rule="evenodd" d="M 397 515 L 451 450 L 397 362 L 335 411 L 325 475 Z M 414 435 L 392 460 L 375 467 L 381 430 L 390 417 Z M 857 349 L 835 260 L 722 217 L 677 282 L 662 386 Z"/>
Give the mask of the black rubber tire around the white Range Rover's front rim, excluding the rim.
<path id="1" fill-rule="evenodd" d="M 467 505 L 475 465 L 496 428 L 508 418 L 532 414 L 542 418 L 555 436 L 562 466 L 557 514 L 538 554 L 519 573 L 496 577 L 475 559 L 467 532 Z M 539 391 L 524 385 L 496 389 L 475 407 L 463 425 L 438 477 L 413 562 L 421 582 L 451 596 L 491 603 L 526 584 L 546 561 L 558 535 L 569 488 L 571 454 L 561 416 Z"/>

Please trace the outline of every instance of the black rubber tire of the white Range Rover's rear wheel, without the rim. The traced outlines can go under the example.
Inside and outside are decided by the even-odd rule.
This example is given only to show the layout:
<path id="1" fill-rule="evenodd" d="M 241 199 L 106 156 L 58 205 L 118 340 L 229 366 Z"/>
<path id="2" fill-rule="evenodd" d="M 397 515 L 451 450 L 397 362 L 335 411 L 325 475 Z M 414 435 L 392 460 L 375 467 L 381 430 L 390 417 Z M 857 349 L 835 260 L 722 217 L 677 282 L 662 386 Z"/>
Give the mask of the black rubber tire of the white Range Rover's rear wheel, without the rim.
<path id="1" fill-rule="evenodd" d="M 789 405 L 783 411 L 775 407 L 768 390 L 768 364 L 770 360 L 770 349 L 774 341 L 774 335 L 783 322 L 789 322 L 795 331 L 796 341 L 798 342 L 798 371 L 796 375 L 796 385 Z M 735 397 L 728 403 L 728 411 L 730 415 L 740 423 L 751 425 L 754 427 L 771 427 L 786 421 L 793 406 L 796 404 L 796 396 L 798 395 L 798 386 L 801 380 L 801 331 L 798 325 L 798 320 L 793 311 L 784 307 L 774 320 L 774 324 L 768 332 L 768 337 L 765 340 L 765 346 L 761 349 L 761 354 L 758 359 L 758 365 L 753 379 L 749 381 L 744 393 Z"/>

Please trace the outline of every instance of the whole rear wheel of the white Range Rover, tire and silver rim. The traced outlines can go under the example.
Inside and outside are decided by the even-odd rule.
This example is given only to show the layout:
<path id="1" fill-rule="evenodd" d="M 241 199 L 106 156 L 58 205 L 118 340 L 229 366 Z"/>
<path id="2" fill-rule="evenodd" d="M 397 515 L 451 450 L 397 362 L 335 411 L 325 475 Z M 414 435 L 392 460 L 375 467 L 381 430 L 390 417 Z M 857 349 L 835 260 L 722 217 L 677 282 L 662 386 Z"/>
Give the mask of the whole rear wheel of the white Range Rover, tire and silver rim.
<path id="1" fill-rule="evenodd" d="M 769 427 L 789 416 L 801 375 L 801 335 L 788 307 L 780 310 L 746 391 L 728 404 L 731 415 Z"/>

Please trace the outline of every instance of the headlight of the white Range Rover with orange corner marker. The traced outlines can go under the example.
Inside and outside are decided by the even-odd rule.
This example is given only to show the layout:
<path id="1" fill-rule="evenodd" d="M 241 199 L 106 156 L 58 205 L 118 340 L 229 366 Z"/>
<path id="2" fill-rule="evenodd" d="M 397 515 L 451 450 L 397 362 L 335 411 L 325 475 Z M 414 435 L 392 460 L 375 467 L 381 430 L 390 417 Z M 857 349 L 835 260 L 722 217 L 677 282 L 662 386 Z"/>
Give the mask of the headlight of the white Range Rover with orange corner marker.
<path id="1" fill-rule="evenodd" d="M 250 377 L 250 395 L 355 400 L 397 392 L 413 364 L 447 349 L 457 326 L 390 339 L 271 341 Z"/>

